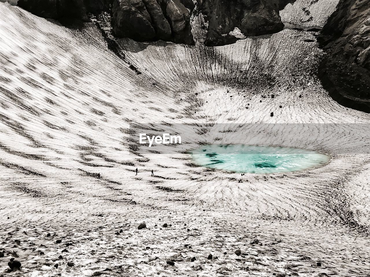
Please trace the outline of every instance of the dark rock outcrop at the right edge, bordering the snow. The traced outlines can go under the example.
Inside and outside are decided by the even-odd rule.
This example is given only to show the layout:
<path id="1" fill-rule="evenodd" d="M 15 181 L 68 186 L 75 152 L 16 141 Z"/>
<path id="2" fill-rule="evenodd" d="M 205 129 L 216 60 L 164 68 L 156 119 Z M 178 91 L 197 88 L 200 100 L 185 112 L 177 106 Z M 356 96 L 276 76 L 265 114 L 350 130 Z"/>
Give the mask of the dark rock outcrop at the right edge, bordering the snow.
<path id="1" fill-rule="evenodd" d="M 318 40 L 329 52 L 319 73 L 330 95 L 370 112 L 370 1 L 341 0 Z"/>

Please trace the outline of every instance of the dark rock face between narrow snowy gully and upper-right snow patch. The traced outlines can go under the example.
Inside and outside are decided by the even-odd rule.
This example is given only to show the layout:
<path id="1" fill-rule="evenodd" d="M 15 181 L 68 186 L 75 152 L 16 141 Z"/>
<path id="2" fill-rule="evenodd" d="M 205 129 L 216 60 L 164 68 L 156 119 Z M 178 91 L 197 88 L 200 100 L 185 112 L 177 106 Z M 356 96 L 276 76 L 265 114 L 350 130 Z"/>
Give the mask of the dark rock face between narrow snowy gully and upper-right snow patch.
<path id="1" fill-rule="evenodd" d="M 259 36 L 283 30 L 279 11 L 289 0 L 198 0 L 209 21 L 206 45 L 225 45 L 238 38 L 229 34 L 235 27 L 245 36 Z"/>

